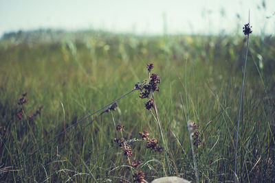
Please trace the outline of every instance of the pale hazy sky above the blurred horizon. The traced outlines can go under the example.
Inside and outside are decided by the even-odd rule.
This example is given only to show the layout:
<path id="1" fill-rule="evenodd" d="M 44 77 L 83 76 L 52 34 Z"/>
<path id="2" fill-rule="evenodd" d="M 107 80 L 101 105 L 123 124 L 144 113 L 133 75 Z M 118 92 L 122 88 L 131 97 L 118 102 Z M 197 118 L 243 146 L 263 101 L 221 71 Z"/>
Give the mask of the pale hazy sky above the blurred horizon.
<path id="1" fill-rule="evenodd" d="M 275 34 L 275 0 L 0 0 L 4 32 L 54 28 L 103 29 L 134 34 Z M 236 14 L 239 14 L 239 19 Z M 269 18 L 267 18 L 269 17 Z M 166 25 L 166 26 L 164 26 Z M 237 27 L 239 26 L 239 29 Z M 164 28 L 166 27 L 166 28 Z"/>

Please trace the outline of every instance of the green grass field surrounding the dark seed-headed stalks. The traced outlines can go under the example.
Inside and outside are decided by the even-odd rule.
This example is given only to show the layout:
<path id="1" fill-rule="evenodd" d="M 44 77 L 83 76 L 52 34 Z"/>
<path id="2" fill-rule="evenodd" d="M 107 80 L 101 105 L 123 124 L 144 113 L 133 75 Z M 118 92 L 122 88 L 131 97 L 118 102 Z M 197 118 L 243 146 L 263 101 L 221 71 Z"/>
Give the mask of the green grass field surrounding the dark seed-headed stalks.
<path id="1" fill-rule="evenodd" d="M 133 182 L 142 171 L 147 182 L 165 175 L 195 182 L 190 119 L 201 142 L 199 182 L 232 182 L 245 40 L 102 32 L 52 43 L 0 40 L 0 181 Z M 115 111 L 82 120 L 148 80 L 149 63 L 161 80 L 154 99 L 163 137 L 139 90 Z M 275 181 L 274 71 L 275 38 L 252 34 L 237 149 L 241 182 Z M 134 141 L 128 159 L 113 139 L 139 140 L 143 130 L 164 152 Z M 134 159 L 137 168 L 129 165 Z"/>

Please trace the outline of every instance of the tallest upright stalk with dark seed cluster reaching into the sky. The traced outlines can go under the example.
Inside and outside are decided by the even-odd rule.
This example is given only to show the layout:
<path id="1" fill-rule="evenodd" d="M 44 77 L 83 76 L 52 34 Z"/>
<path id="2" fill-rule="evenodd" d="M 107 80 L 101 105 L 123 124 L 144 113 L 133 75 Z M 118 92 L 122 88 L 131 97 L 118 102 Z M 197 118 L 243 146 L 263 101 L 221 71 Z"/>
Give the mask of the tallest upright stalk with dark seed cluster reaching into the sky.
<path id="1" fill-rule="evenodd" d="M 250 29 L 250 12 L 248 13 L 248 24 L 245 24 L 245 27 L 243 27 L 243 33 L 245 35 L 248 35 L 248 40 L 246 42 L 246 51 L 245 51 L 245 66 L 243 69 L 243 82 L 241 84 L 241 97 L 240 97 L 240 103 L 239 103 L 239 114 L 238 114 L 238 124 L 236 127 L 236 144 L 235 144 L 235 162 L 234 162 L 234 182 L 236 182 L 236 178 L 238 177 L 238 170 L 236 169 L 236 154 L 238 151 L 238 137 L 239 137 L 239 124 L 240 124 L 240 116 L 241 116 L 241 103 L 243 100 L 243 85 L 245 82 L 245 69 L 246 69 L 246 63 L 248 60 L 248 43 L 249 43 L 249 35 L 252 33 Z"/>

